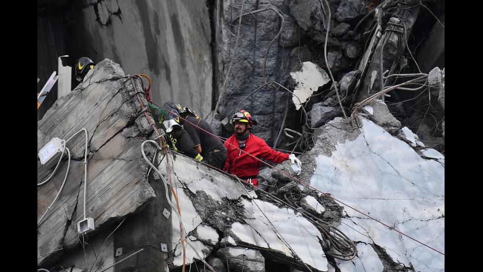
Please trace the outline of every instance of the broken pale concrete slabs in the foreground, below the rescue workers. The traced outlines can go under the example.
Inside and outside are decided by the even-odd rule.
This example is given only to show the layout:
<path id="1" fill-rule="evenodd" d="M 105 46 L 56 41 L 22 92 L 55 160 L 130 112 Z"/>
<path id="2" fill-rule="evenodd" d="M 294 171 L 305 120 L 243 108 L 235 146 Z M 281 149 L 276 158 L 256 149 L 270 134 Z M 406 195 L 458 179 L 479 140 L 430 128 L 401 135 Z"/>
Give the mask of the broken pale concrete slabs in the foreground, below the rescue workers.
<path id="1" fill-rule="evenodd" d="M 382 151 L 376 157 L 384 157 L 383 163 L 390 164 L 390 169 L 397 169 L 397 175 L 408 180 L 410 186 L 417 182 L 403 169 L 416 173 L 421 184 L 417 184 L 411 190 L 397 189 L 397 194 L 421 191 L 425 196 L 417 201 L 418 208 L 431 212 L 428 215 L 417 212 L 403 213 L 409 216 L 403 221 L 412 222 L 413 216 L 416 215 L 418 221 L 421 218 L 422 222 L 438 222 L 436 226 L 419 226 L 417 229 L 428 233 L 433 230 L 431 228 L 438 231 L 443 228 L 444 232 L 444 156 L 435 157 L 434 153 L 428 153 L 431 149 L 423 148 L 423 144 L 410 130 L 401 127 L 388 112 L 384 102 L 378 100 L 363 108 L 363 113 L 358 116 L 359 123 L 362 124 L 360 129 L 354 129 L 350 120 L 340 117 L 317 129 L 311 152 L 300 156 L 302 168 L 285 161 L 271 167 L 271 172 L 264 170 L 262 176 L 265 178 L 257 189 L 226 172 L 153 145 L 152 141 L 159 138 L 159 133 L 152 128 L 150 118 L 146 119 L 141 109 L 145 100 L 139 99 L 136 91 L 142 89 L 140 81 L 131 84 L 133 77 L 123 75 L 117 64 L 104 60 L 88 74 L 85 84 L 59 101 L 59 106 L 49 110 L 46 115 L 49 118 L 60 117 L 66 114 L 66 109 L 69 109 L 71 114 L 77 113 L 77 116 L 82 112 L 93 114 L 92 110 L 86 110 L 87 105 L 104 112 L 104 118 L 79 118 L 79 123 L 53 124 L 52 131 L 57 133 L 72 130 L 66 129 L 66 126 L 85 126 L 89 129 L 87 170 L 90 176 L 85 192 L 82 179 L 77 182 L 68 179 L 67 191 L 61 194 L 62 197 L 57 202 L 59 204 L 53 205 L 50 211 L 55 217 L 49 216 L 38 226 L 39 268 L 48 268 L 49 271 L 61 271 L 60 267 L 127 271 L 147 266 L 148 271 L 181 271 L 185 267 L 198 271 L 325 272 L 336 268 L 344 270 L 346 264 L 351 264 L 355 267 L 375 269 L 384 267 L 386 270 L 410 271 L 414 267 L 415 271 L 428 271 L 423 268 L 426 265 L 421 267 L 416 262 L 422 262 L 418 256 L 425 256 L 427 252 L 414 256 L 386 245 L 384 240 L 380 240 L 381 233 L 377 227 L 366 227 L 367 223 L 363 222 L 355 223 L 360 220 L 357 218 L 361 215 L 353 214 L 350 206 L 341 204 L 343 194 L 338 192 L 332 196 L 335 188 L 349 189 L 346 185 L 337 185 L 341 182 L 339 178 L 345 176 L 355 177 L 350 180 L 354 184 L 365 182 L 353 190 L 355 194 L 367 195 L 370 192 L 368 184 L 376 182 L 371 176 L 379 175 L 378 171 L 381 171 L 383 166 L 362 155 L 347 154 L 347 157 L 342 155 L 342 164 L 334 164 L 336 166 L 331 170 L 322 170 L 330 178 L 318 177 L 321 175 L 320 169 L 335 163 L 331 162 L 333 157 L 335 159 L 336 155 L 341 156 L 341 152 L 345 153 L 343 143 L 353 145 L 361 139 L 369 141 L 371 137 L 381 139 L 382 143 L 393 142 L 388 146 L 394 146 L 397 150 Z M 126 85 L 122 87 L 123 84 Z M 118 94 L 122 94 L 123 98 L 117 99 Z M 75 103 L 86 96 L 101 103 Z M 68 101 L 70 102 L 66 103 Z M 115 101 L 121 104 L 114 103 Z M 118 111 L 107 111 L 107 106 Z M 133 111 L 138 114 L 132 116 L 130 113 Z M 91 115 L 85 115 L 89 116 Z M 130 121 L 123 122 L 123 126 L 112 125 L 125 118 Z M 48 129 L 45 130 L 46 124 L 52 122 L 44 120 L 38 123 L 38 137 L 42 139 L 53 136 L 49 134 Z M 100 128 L 105 132 L 98 131 Z M 117 132 L 112 129 L 116 129 Z M 98 132 L 99 136 L 117 136 L 101 139 L 97 138 Z M 64 138 L 62 135 L 61 137 Z M 100 140 L 104 143 L 101 144 Z M 119 148 L 120 145 L 113 146 L 118 141 L 123 141 L 124 144 L 121 146 L 124 148 L 133 145 L 137 148 L 124 149 Z M 372 151 L 369 154 L 375 154 L 379 153 L 377 144 L 378 142 L 368 142 L 362 146 L 370 146 Z M 80 147 L 80 144 L 77 146 Z M 349 148 L 354 151 L 358 149 L 354 146 Z M 421 155 L 416 155 L 416 150 Z M 120 153 L 122 159 L 115 155 L 116 153 Z M 410 156 L 403 159 L 403 154 Z M 392 161 L 391 155 L 399 156 L 396 162 Z M 329 161 L 320 164 L 319 160 L 323 158 Z M 435 164 L 429 163 L 430 161 Z M 119 168 L 119 163 L 127 163 L 134 168 Z M 80 172 L 84 165 L 81 161 L 74 161 L 73 164 L 76 165 L 76 172 Z M 52 173 L 52 169 L 44 169 L 40 162 L 37 162 L 37 165 L 40 182 Z M 69 171 L 67 162 L 64 161 L 61 165 L 61 172 Z M 408 169 L 407 165 L 419 166 Z M 341 169 L 348 172 L 341 176 L 332 175 Z M 116 172 L 117 178 L 113 179 L 113 175 L 107 174 L 112 170 Z M 429 176 L 420 176 L 418 171 Z M 123 173 L 129 173 L 132 177 L 122 178 Z M 96 178 L 92 179 L 92 175 Z M 381 184 L 382 187 L 392 186 L 389 185 L 391 180 L 396 181 L 396 184 L 402 183 L 396 180 L 394 174 L 382 175 L 392 176 Z M 45 185 L 46 187 L 39 186 L 37 199 L 42 199 L 43 203 L 39 205 L 39 216 L 54 199 L 54 193 L 62 191 L 60 185 L 63 179 L 63 175 L 57 174 L 52 182 Z M 331 188 L 330 191 L 314 187 L 322 181 L 328 181 L 337 187 Z M 426 187 L 428 189 L 425 189 Z M 129 194 L 126 193 L 126 188 L 131 188 Z M 440 190 L 435 191 L 434 188 Z M 380 194 L 379 188 L 377 189 L 373 192 L 376 195 Z M 390 187 L 384 191 L 386 190 L 390 190 Z M 440 199 L 428 198 L 426 190 Z M 135 202 L 132 201 L 135 199 L 133 192 L 137 192 L 138 195 Z M 85 200 L 82 199 L 84 194 L 87 195 Z M 102 197 L 97 197 L 98 195 Z M 404 195 L 399 197 L 406 198 Z M 344 198 L 342 202 L 347 203 L 352 198 Z M 372 199 L 369 195 L 364 198 Z M 124 204 L 120 204 L 120 201 L 124 201 Z M 426 201 L 430 201 L 433 207 L 425 207 L 426 204 L 423 203 Z M 436 213 L 435 202 L 438 203 Z M 376 203 L 366 203 L 360 208 L 380 213 L 375 209 L 380 206 L 380 200 L 376 200 Z M 410 203 L 407 205 L 411 206 Z M 75 207 L 82 204 L 86 204 L 87 217 L 95 219 L 95 230 L 89 233 L 76 232 L 76 223 L 82 220 L 83 214 Z M 380 217 L 384 218 L 385 215 L 381 214 Z M 398 220 L 401 219 L 395 222 Z M 392 224 L 399 226 L 400 223 Z M 443 227 L 440 224 L 443 224 Z M 54 226 L 65 228 L 67 232 L 49 232 L 48 230 Z M 353 230 L 357 232 L 354 233 Z M 361 236 L 363 232 L 366 234 Z M 49 236 L 62 233 L 64 234 L 60 237 L 55 236 L 55 239 Z M 396 232 L 385 235 L 388 234 L 399 236 Z M 430 236 L 428 239 L 440 242 L 442 237 L 444 241 L 444 234 L 438 234 L 437 238 Z M 403 240 L 401 239 L 401 242 Z M 371 246 L 367 247 L 368 244 Z M 403 248 L 406 249 L 403 250 L 408 250 L 408 246 L 414 247 L 414 244 L 404 244 Z M 385 253 L 383 248 L 390 252 Z M 393 251 L 405 257 L 394 259 L 391 253 Z M 367 256 L 371 257 L 366 260 Z M 432 258 L 441 259 L 437 254 Z M 433 266 L 440 268 L 439 264 Z"/>

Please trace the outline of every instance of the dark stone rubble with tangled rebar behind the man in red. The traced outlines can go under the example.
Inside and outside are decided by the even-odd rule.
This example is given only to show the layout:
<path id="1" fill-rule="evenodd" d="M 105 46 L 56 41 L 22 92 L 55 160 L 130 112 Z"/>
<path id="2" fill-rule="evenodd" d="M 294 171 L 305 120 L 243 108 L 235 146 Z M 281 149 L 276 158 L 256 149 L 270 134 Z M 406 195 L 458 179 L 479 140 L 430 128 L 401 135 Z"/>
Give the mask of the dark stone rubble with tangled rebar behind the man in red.
<path id="1" fill-rule="evenodd" d="M 222 119 L 245 109 L 262 120 L 264 125 L 255 131 L 269 145 L 305 152 L 314 129 L 335 117 L 353 118 L 362 104 L 377 98 L 421 141 L 444 153 L 444 109 L 437 102 L 444 86 L 427 84 L 431 70 L 445 68 L 444 1 L 305 0 L 242 6 L 229 0 L 224 7 L 218 43 L 238 42 L 223 54 L 229 57 L 220 57 L 227 74 L 220 82 L 227 95 L 216 109 Z M 237 31 L 257 39 L 236 40 Z M 232 54 L 244 62 L 232 66 Z M 296 133 L 285 137 L 287 129 Z M 229 132 L 219 131 L 224 137 Z"/>

